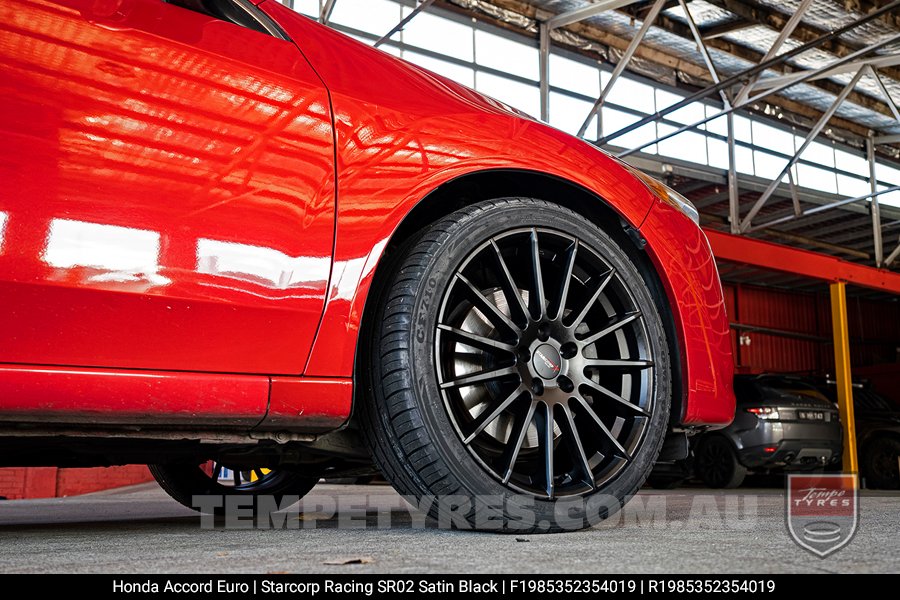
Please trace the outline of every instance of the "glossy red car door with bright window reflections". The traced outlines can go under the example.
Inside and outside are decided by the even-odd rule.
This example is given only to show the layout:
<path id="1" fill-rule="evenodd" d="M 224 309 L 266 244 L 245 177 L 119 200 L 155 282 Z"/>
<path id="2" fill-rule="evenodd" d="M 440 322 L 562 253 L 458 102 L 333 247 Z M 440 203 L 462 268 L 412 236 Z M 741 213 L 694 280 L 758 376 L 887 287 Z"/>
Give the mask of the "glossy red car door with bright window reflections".
<path id="1" fill-rule="evenodd" d="M 327 91 L 253 4 L 205 4 L 0 4 L 0 363 L 302 372 Z"/>

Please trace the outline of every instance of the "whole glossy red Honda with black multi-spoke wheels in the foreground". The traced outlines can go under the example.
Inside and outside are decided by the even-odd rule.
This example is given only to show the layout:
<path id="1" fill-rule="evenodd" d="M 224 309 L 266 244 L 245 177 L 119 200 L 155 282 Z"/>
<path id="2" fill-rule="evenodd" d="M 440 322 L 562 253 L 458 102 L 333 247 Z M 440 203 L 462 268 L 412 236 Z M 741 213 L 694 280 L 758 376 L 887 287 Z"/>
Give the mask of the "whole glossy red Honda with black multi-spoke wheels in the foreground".
<path id="1" fill-rule="evenodd" d="M 0 464 L 193 505 L 374 461 L 545 531 L 731 421 L 696 211 L 590 144 L 274 0 L 0 27 Z"/>

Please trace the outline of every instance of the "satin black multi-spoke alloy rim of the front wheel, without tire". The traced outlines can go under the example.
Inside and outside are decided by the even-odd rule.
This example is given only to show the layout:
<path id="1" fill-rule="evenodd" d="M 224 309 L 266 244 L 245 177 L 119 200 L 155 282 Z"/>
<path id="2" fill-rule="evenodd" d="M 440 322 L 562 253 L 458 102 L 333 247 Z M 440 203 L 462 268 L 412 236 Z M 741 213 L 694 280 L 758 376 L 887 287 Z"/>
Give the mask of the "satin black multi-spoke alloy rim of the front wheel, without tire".
<path id="1" fill-rule="evenodd" d="M 435 332 L 460 439 L 498 480 L 548 498 L 631 460 L 653 408 L 653 353 L 628 284 L 577 237 L 492 236 L 457 268 Z"/>

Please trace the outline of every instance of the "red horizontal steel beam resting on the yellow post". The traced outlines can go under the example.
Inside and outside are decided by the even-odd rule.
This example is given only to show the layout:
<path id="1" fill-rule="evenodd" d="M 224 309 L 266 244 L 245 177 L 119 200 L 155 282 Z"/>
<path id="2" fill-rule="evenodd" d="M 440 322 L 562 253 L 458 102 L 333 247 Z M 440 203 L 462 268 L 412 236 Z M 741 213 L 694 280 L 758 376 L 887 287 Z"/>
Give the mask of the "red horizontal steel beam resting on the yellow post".
<path id="1" fill-rule="evenodd" d="M 900 294 L 900 273 L 714 229 L 704 229 L 704 232 L 713 254 L 720 260 Z"/>

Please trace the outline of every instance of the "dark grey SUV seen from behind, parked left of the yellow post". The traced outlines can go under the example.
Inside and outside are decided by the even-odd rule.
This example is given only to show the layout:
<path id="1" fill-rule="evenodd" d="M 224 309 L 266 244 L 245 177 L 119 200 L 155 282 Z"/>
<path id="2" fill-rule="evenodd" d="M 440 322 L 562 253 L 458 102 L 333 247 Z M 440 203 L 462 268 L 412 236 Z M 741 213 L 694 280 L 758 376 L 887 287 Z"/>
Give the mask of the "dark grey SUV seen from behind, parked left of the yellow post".
<path id="1" fill-rule="evenodd" d="M 782 375 L 737 375 L 734 391 L 734 422 L 692 439 L 693 469 L 690 463 L 661 466 L 651 485 L 671 486 L 679 479 L 678 469 L 681 479 L 693 470 L 709 487 L 734 488 L 749 471 L 814 470 L 840 463 L 843 438 L 837 408 L 809 382 Z"/>

